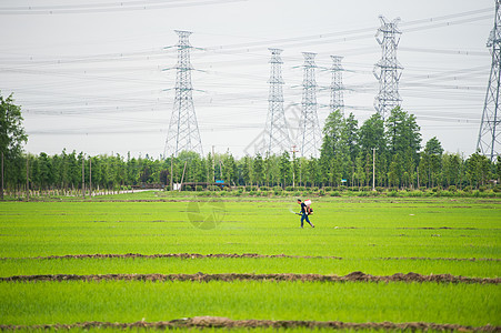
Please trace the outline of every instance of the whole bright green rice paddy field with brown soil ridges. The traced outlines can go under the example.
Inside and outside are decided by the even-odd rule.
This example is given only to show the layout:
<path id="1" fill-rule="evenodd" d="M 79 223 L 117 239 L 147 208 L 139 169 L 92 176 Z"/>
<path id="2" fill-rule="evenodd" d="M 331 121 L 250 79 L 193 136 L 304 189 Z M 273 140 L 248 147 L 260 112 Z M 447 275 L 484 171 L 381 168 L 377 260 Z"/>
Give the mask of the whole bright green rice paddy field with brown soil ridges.
<path id="1" fill-rule="evenodd" d="M 0 327 L 501 331 L 501 201 L 0 203 Z"/>

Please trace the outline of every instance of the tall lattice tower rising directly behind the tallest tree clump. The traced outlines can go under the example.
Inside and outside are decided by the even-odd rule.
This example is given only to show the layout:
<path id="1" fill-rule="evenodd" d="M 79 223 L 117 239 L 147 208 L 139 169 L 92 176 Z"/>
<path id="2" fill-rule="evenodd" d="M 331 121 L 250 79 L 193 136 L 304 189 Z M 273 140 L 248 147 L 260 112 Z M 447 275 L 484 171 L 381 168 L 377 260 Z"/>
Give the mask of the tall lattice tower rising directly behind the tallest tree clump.
<path id="1" fill-rule="evenodd" d="M 379 19 L 381 27 L 375 33 L 375 40 L 381 46 L 382 58 L 375 63 L 373 71 L 374 77 L 379 80 L 379 93 L 374 100 L 374 108 L 382 119 L 385 119 L 391 110 L 400 105 L 402 101 L 399 94 L 399 80 L 403 68 L 397 60 L 397 47 L 402 32 L 397 28 L 400 18 L 391 22 L 382 16 Z"/>

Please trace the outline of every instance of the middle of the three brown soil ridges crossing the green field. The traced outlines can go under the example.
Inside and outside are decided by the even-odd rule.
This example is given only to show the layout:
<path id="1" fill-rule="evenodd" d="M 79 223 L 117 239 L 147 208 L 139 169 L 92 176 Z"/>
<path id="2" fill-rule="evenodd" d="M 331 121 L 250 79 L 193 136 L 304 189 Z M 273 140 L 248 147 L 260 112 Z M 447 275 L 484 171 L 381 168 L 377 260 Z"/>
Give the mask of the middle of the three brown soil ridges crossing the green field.
<path id="1" fill-rule="evenodd" d="M 37 281 L 302 281 L 302 282 L 437 282 L 437 283 L 481 283 L 499 284 L 500 278 L 467 278 L 454 276 L 451 274 L 431 274 L 421 275 L 418 273 L 395 273 L 393 275 L 370 275 L 362 272 L 352 272 L 344 276 L 320 275 L 320 274 L 246 274 L 246 273 L 226 273 L 226 274 L 47 274 L 47 275 L 17 275 L 0 278 L 3 282 L 37 282 Z"/>

